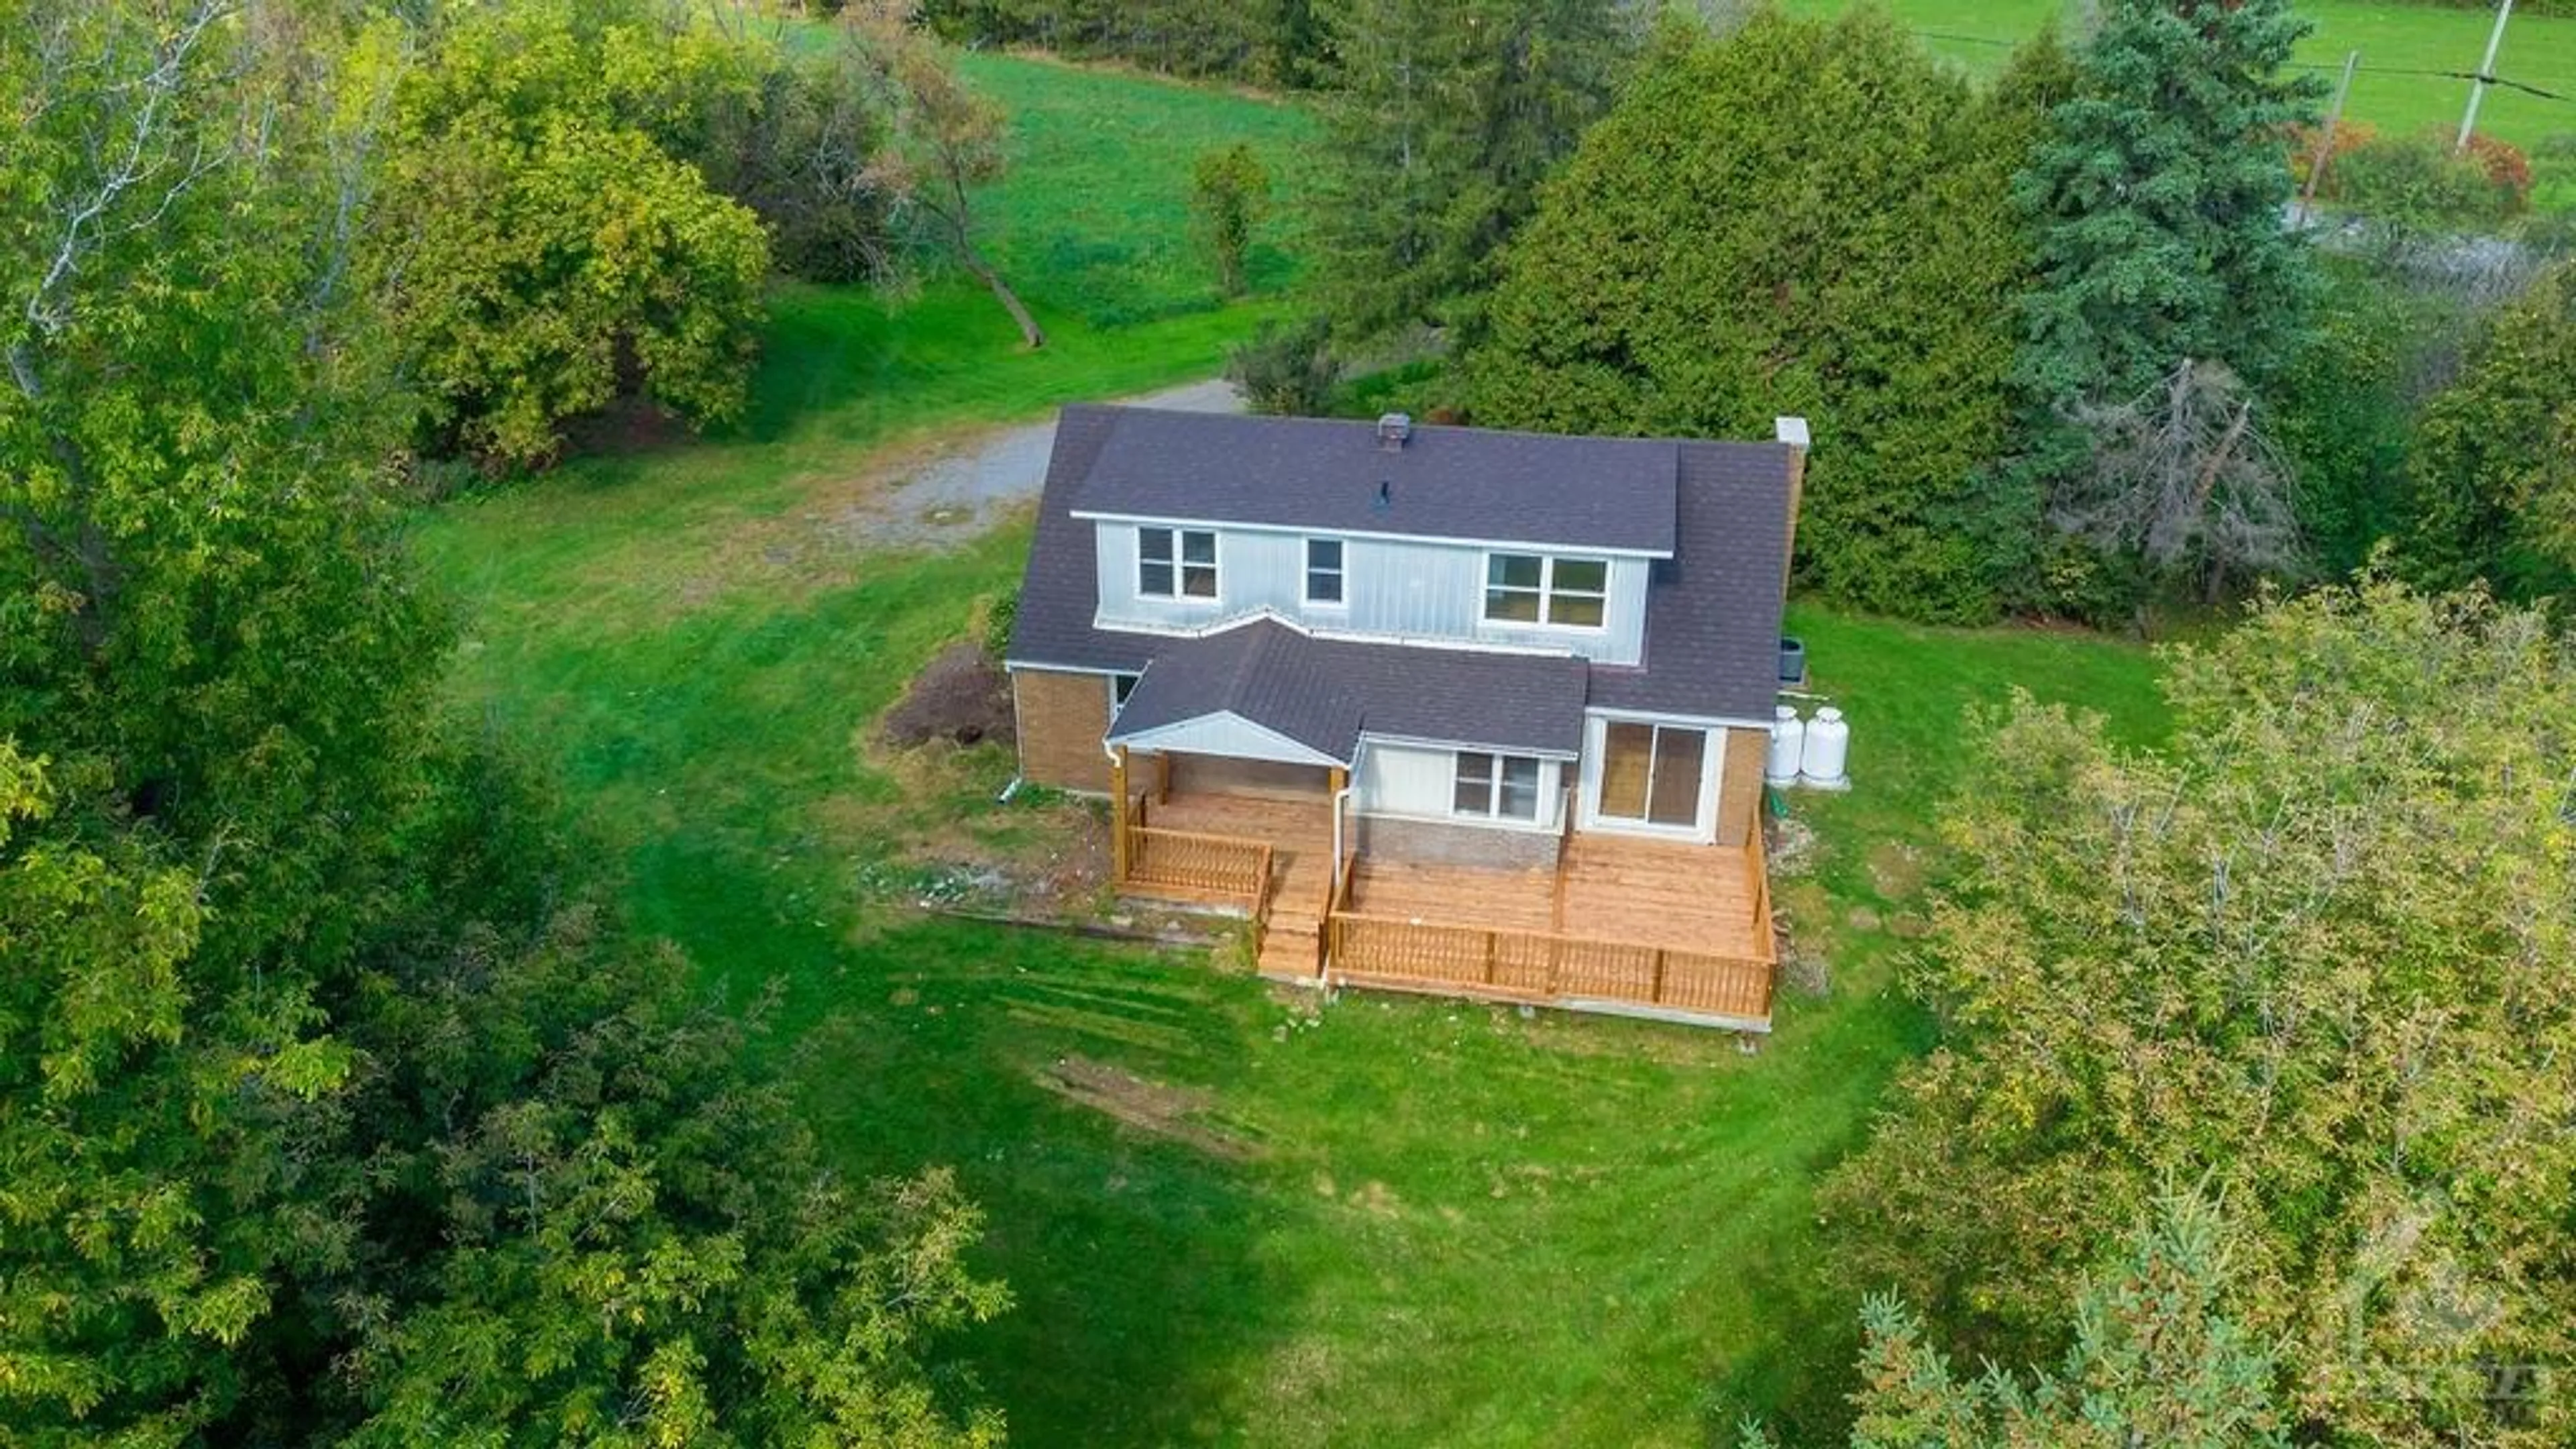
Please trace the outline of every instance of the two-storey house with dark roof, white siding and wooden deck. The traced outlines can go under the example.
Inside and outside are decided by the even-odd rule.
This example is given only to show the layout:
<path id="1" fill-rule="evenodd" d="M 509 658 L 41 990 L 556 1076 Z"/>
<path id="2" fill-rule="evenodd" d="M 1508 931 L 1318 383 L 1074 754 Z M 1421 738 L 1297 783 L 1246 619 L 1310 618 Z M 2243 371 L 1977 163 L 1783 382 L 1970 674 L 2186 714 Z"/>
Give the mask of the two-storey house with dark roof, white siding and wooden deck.
<path id="1" fill-rule="evenodd" d="M 1775 443 L 1066 407 L 1010 645 L 1028 781 L 1270 975 L 1762 1026 Z"/>

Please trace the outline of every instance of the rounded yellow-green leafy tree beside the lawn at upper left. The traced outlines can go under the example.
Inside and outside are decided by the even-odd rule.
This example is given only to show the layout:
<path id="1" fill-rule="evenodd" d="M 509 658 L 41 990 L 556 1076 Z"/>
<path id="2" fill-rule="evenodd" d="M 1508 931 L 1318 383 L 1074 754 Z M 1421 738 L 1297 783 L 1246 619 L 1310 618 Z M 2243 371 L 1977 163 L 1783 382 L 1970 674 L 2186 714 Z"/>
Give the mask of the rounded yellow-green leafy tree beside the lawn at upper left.
<path id="1" fill-rule="evenodd" d="M 621 116 L 629 31 L 554 0 L 453 13 L 402 88 L 379 273 L 435 420 L 544 464 L 629 387 L 739 415 L 768 240 Z"/>

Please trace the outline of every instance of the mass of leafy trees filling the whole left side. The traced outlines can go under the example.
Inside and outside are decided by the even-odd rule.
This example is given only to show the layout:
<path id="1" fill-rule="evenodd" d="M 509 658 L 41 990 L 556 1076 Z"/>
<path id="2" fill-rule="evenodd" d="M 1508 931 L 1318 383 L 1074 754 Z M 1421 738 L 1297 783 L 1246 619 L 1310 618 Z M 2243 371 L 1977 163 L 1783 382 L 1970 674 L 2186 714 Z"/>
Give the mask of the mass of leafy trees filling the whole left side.
<path id="1" fill-rule="evenodd" d="M 605 379 L 739 407 L 829 193 L 765 137 L 850 116 L 420 10 L 0 3 L 5 1439 L 994 1444 L 974 1209 L 829 1171 L 762 1006 L 621 926 L 394 505 Z"/>

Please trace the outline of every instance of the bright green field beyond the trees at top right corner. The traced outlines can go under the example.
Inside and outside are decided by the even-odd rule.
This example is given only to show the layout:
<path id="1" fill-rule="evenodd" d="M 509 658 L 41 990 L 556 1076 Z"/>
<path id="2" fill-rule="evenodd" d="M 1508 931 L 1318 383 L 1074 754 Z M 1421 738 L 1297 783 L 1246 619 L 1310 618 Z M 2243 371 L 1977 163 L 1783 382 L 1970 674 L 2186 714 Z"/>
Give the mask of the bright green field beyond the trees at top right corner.
<path id="1" fill-rule="evenodd" d="M 2066 0 L 1878 0 L 1924 44 L 1978 75 L 2004 62 L 2014 41 L 2058 18 L 2074 31 L 2074 5 Z M 1850 10 L 1855 0 L 1783 0 L 1801 15 Z M 2442 5 L 2393 5 L 2365 0 L 2303 0 L 2298 10 L 2316 21 L 2300 46 L 2303 64 L 2334 80 L 2344 54 L 2362 52 L 2362 72 L 2352 83 L 2349 116 L 2380 131 L 2416 131 L 2460 124 L 2468 83 L 2447 75 L 2470 72 L 2486 54 L 2494 8 L 2455 10 Z M 2496 57 L 2496 75 L 2576 95 L 2576 21 L 2514 15 Z M 2519 90 L 2494 88 L 2478 111 L 2478 129 L 2517 147 L 2545 137 L 2576 137 L 2576 101 L 2543 101 Z"/>

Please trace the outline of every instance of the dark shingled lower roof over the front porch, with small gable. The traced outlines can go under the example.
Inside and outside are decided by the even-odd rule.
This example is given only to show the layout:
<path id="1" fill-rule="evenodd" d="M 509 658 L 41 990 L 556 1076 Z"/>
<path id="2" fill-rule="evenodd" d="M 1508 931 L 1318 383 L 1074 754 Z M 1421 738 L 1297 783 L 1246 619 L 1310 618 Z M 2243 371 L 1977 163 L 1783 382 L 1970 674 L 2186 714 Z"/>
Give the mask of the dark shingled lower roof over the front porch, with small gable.
<path id="1" fill-rule="evenodd" d="M 1355 763 L 1360 732 L 1571 755 L 1584 735 L 1584 660 L 1314 639 L 1275 619 L 1167 639 L 1110 740 L 1234 712 Z"/>

